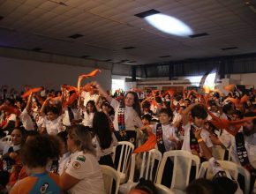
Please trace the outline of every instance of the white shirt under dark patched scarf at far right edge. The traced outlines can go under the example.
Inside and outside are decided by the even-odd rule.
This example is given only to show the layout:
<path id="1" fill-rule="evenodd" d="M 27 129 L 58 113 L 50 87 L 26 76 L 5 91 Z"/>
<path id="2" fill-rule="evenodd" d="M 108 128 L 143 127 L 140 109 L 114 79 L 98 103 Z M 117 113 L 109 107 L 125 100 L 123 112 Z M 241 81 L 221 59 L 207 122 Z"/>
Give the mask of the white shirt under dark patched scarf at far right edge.
<path id="1" fill-rule="evenodd" d="M 248 154 L 248 159 L 253 168 L 256 168 L 256 133 L 251 136 L 245 136 L 245 149 Z M 232 138 L 231 141 L 231 159 L 238 165 L 241 165 L 240 160 L 237 156 L 237 146 L 235 137 Z"/>

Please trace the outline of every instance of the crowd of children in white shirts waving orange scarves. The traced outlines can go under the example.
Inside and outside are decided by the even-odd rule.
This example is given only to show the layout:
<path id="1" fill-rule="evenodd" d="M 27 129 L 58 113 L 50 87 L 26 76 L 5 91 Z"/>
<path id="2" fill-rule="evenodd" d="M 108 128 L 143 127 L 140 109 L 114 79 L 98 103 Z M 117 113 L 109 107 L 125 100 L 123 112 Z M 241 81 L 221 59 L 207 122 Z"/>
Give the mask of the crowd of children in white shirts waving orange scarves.
<path id="1" fill-rule="evenodd" d="M 161 153 L 184 150 L 201 161 L 214 160 L 212 148 L 223 146 L 231 150 L 232 161 L 251 173 L 253 188 L 253 90 L 226 86 L 225 93 L 146 93 L 133 89 L 111 96 L 96 82 L 81 86 L 82 80 L 79 77 L 78 87 L 64 85 L 60 91 L 40 87 L 15 93 L 7 86 L 1 88 L 0 136 L 11 135 L 11 142 L 0 141 L 0 190 L 104 193 L 99 164 L 115 168 L 111 154 L 118 141 L 142 147 L 139 152 L 153 148 Z M 143 147 L 151 134 L 153 145 Z M 168 180 L 169 171 L 165 172 L 163 177 Z M 187 192 L 192 193 L 197 184 L 193 183 Z"/>

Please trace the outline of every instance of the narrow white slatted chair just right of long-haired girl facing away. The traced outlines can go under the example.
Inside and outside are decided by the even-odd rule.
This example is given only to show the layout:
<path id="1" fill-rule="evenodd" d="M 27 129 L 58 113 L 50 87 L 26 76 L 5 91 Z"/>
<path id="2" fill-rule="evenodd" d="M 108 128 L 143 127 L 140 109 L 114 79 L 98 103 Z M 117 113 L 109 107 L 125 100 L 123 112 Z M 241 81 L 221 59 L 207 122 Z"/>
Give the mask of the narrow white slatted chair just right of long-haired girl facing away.
<path id="1" fill-rule="evenodd" d="M 129 163 L 132 157 L 132 152 L 134 150 L 134 145 L 129 141 L 120 141 L 118 145 L 113 148 L 113 160 L 116 159 L 117 147 L 120 147 L 120 156 L 117 159 L 117 172 L 120 175 L 120 183 L 125 183 L 127 179 L 127 171 Z"/>

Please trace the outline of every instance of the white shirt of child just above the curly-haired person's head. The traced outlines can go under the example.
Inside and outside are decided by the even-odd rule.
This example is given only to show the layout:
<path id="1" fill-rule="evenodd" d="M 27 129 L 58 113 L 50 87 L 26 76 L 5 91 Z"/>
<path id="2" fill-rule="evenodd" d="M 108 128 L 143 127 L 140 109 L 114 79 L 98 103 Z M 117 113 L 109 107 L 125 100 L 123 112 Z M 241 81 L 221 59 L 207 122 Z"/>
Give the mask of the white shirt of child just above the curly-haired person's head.
<path id="1" fill-rule="evenodd" d="M 43 117 L 42 127 L 46 128 L 49 135 L 56 135 L 60 131 L 63 131 L 62 116 L 58 116 L 55 120 L 50 121 L 46 116 Z"/>

